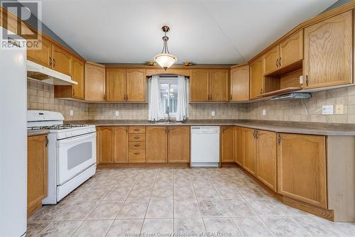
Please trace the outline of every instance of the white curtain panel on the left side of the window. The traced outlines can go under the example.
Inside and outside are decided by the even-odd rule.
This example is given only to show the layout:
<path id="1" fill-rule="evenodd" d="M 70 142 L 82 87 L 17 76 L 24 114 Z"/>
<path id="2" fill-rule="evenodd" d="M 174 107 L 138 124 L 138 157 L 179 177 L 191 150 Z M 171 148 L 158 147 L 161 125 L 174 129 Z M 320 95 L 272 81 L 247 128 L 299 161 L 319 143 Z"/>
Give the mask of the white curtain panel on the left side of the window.
<path id="1" fill-rule="evenodd" d="M 160 118 L 160 91 L 158 75 L 151 77 L 151 92 L 149 94 L 148 120 L 158 121 Z"/>

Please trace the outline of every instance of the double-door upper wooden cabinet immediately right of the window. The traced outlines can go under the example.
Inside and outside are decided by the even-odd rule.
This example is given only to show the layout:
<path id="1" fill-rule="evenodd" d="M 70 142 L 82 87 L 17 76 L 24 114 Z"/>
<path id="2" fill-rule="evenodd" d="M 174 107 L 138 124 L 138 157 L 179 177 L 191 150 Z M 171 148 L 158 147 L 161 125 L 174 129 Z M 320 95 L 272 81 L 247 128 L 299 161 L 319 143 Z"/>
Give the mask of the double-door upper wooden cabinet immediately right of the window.
<path id="1" fill-rule="evenodd" d="M 229 69 L 192 69 L 190 102 L 227 102 Z"/>

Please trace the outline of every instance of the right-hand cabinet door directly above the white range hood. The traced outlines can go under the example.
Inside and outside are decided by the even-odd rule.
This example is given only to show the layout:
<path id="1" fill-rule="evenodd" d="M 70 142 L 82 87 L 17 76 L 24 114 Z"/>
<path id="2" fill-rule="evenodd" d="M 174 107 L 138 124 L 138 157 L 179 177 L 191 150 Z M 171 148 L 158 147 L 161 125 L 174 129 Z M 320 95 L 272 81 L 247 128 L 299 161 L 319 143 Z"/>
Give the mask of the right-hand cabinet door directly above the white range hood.
<path id="1" fill-rule="evenodd" d="M 57 72 L 71 75 L 72 55 L 57 45 L 52 45 L 52 68 Z"/>

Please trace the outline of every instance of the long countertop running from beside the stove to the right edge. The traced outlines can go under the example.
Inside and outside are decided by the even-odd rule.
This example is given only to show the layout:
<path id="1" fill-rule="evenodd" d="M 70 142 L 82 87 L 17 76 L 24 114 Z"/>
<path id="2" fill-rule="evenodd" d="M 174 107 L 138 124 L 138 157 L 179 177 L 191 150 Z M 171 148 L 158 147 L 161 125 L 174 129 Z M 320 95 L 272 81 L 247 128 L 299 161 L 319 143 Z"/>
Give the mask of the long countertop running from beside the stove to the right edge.
<path id="1" fill-rule="evenodd" d="M 96 126 L 241 126 L 278 133 L 302 133 L 324 136 L 355 136 L 355 124 L 258 121 L 238 119 L 187 120 L 185 123 L 150 123 L 146 120 L 65 121 Z"/>

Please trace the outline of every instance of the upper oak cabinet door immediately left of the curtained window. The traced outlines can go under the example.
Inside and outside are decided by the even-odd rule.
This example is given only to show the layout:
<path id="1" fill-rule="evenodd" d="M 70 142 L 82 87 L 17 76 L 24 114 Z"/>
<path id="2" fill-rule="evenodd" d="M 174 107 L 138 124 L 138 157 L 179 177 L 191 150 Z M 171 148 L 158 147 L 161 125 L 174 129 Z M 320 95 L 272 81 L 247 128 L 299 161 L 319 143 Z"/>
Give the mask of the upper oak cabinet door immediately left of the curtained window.
<path id="1" fill-rule="evenodd" d="M 128 69 L 126 77 L 126 101 L 146 101 L 146 71 Z"/>

